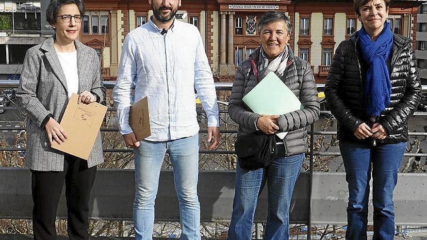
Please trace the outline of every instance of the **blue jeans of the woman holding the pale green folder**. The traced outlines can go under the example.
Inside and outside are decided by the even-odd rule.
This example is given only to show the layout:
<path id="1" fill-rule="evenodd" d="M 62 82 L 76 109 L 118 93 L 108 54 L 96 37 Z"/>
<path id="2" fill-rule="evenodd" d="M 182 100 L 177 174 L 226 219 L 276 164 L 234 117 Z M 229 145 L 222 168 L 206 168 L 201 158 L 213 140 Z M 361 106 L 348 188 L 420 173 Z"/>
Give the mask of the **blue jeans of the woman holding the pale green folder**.
<path id="1" fill-rule="evenodd" d="M 265 168 L 254 171 L 237 166 L 236 192 L 228 240 L 251 240 L 258 196 L 265 182 L 268 186 L 268 216 L 264 239 L 289 238 L 289 206 L 304 154 L 278 158 Z"/>

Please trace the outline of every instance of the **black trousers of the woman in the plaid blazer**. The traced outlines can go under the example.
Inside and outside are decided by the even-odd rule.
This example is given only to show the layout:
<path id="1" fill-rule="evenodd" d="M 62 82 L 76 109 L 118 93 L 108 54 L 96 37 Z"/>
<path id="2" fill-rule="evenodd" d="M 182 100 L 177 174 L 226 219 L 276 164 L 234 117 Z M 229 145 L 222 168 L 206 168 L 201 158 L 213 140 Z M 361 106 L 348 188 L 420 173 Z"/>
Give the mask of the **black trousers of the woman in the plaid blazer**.
<path id="1" fill-rule="evenodd" d="M 32 172 L 34 240 L 56 240 L 56 210 L 66 185 L 67 232 L 70 240 L 89 239 L 89 197 L 97 167 L 66 154 L 63 172 Z"/>

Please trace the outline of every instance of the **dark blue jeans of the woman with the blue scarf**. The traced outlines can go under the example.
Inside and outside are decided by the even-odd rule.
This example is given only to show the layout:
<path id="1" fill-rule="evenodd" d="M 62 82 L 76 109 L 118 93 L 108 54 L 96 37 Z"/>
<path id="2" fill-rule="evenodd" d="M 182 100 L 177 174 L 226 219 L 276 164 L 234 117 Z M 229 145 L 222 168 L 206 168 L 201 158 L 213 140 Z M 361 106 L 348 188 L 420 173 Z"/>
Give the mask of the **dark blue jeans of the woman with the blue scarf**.
<path id="1" fill-rule="evenodd" d="M 375 240 L 393 240 L 393 190 L 397 184 L 397 170 L 406 143 L 366 144 L 340 142 L 348 183 L 346 240 L 366 240 L 368 223 L 369 181 L 372 168 L 372 200 L 374 205 Z"/>

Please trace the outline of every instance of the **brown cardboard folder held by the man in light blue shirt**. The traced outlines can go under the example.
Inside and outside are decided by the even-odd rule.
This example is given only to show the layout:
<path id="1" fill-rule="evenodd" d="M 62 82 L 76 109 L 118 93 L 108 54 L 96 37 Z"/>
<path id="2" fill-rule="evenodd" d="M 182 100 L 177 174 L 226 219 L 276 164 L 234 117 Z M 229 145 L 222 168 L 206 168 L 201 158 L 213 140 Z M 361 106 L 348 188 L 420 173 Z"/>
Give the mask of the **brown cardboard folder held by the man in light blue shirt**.
<path id="1" fill-rule="evenodd" d="M 129 111 L 129 125 L 135 134 L 136 140 L 141 141 L 151 135 L 150 110 L 148 97 L 135 102 Z"/>

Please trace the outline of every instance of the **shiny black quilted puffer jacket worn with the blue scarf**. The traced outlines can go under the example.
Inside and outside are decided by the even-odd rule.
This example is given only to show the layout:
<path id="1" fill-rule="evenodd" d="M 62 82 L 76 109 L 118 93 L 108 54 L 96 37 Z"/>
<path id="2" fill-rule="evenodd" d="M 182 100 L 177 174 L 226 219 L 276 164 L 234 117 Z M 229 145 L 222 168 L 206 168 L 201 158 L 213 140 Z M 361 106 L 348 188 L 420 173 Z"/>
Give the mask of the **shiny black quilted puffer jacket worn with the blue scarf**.
<path id="1" fill-rule="evenodd" d="M 408 141 L 408 118 L 421 98 L 416 59 L 411 39 L 394 34 L 393 49 L 387 63 L 392 94 L 378 122 L 387 129 L 388 136 L 377 143 Z M 332 114 L 338 120 L 338 139 L 371 143 L 372 138 L 358 140 L 353 132 L 361 124 L 369 123 L 366 114 L 365 76 L 368 65 L 358 46 L 357 32 L 338 46 L 329 68 L 325 94 Z"/>

